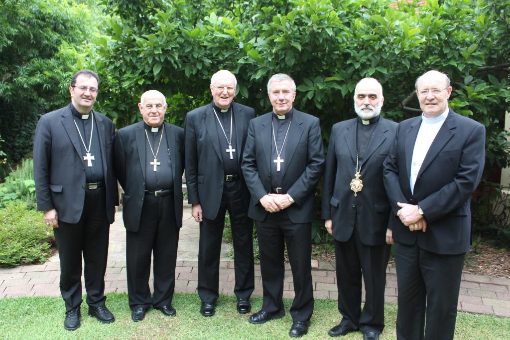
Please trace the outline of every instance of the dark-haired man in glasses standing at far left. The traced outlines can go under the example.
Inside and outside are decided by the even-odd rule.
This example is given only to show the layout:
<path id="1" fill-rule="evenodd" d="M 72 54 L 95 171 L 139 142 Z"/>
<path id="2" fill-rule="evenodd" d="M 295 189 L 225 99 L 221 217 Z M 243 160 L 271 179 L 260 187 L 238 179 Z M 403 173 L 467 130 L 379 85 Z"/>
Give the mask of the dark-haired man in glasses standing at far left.
<path id="1" fill-rule="evenodd" d="M 41 116 L 34 135 L 37 209 L 54 228 L 67 330 L 80 327 L 82 254 L 89 314 L 102 323 L 115 320 L 104 295 L 108 236 L 118 202 L 112 171 L 115 128 L 92 110 L 98 88 L 95 72 L 76 72 L 71 104 Z"/>

